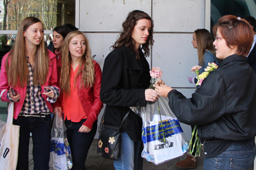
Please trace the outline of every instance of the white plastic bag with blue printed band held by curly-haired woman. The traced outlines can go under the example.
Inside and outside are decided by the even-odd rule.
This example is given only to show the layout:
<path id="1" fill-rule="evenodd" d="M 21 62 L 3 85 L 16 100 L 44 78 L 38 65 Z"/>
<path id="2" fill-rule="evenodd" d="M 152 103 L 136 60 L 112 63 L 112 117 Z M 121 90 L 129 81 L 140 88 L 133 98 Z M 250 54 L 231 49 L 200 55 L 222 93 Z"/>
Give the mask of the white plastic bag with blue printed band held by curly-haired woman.
<path id="1" fill-rule="evenodd" d="M 142 158 L 158 165 L 177 158 L 187 151 L 187 139 L 168 105 L 167 98 L 160 96 L 154 104 L 148 103 L 146 107 L 131 107 L 131 109 L 139 114 L 143 121 Z"/>

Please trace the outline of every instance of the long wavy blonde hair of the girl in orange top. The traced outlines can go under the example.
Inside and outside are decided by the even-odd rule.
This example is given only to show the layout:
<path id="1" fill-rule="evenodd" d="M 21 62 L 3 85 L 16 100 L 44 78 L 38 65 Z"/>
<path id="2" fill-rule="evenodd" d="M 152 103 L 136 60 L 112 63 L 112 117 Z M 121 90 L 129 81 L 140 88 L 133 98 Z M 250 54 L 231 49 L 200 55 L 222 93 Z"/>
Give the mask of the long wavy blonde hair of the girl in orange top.
<path id="1" fill-rule="evenodd" d="M 84 56 L 82 56 L 80 64 L 79 64 L 79 71 L 77 72 L 75 76 L 75 83 L 77 79 L 77 75 L 80 74 L 82 71 L 82 78 L 81 78 L 81 85 L 80 88 L 83 86 L 85 88 L 92 87 L 94 83 L 94 63 L 93 58 L 91 56 L 89 42 L 87 37 L 80 31 L 73 31 L 70 32 L 67 37 L 65 37 L 65 40 L 63 41 L 62 48 L 61 48 L 61 74 L 60 74 L 60 89 L 62 92 L 64 92 L 67 95 L 70 95 L 70 76 L 71 76 L 71 54 L 69 52 L 69 42 L 73 37 L 77 35 L 83 35 L 85 39 L 85 53 Z M 84 69 L 81 70 L 82 66 L 84 66 Z"/>

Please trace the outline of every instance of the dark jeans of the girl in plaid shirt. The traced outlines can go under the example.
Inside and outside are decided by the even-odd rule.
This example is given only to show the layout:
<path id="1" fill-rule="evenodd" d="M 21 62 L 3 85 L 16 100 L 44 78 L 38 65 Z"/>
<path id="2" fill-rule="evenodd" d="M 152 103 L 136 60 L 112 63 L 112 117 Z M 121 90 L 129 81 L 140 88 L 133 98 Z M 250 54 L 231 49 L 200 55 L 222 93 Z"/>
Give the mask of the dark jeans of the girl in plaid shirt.
<path id="1" fill-rule="evenodd" d="M 51 144 L 51 114 L 46 117 L 19 116 L 13 120 L 14 125 L 19 125 L 19 153 L 16 170 L 28 169 L 28 148 L 30 133 L 33 142 L 33 160 L 35 170 L 49 169 L 49 152 Z"/>

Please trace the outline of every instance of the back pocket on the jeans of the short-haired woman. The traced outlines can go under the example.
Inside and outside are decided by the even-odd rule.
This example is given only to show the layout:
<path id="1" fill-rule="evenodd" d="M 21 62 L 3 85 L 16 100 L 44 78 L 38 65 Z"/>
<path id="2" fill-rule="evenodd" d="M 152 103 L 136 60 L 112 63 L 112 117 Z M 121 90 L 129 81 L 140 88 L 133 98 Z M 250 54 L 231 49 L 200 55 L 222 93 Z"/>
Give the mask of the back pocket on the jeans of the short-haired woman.
<path id="1" fill-rule="evenodd" d="M 248 165 L 251 164 L 252 162 L 252 157 L 250 156 L 249 158 L 231 158 L 230 159 L 230 167 L 232 169 L 238 169 L 238 170 L 245 170 L 249 169 L 250 166 Z"/>

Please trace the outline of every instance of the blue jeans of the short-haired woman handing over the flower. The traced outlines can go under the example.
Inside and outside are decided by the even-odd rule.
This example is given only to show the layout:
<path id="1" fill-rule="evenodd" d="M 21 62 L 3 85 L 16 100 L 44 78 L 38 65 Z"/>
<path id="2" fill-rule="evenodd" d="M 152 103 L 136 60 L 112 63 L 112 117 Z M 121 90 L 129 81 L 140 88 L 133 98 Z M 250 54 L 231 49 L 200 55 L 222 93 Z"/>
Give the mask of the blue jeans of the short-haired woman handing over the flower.
<path id="1" fill-rule="evenodd" d="M 249 169 L 255 158 L 254 139 L 233 142 L 222 154 L 204 160 L 204 169 Z"/>

